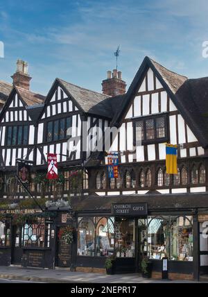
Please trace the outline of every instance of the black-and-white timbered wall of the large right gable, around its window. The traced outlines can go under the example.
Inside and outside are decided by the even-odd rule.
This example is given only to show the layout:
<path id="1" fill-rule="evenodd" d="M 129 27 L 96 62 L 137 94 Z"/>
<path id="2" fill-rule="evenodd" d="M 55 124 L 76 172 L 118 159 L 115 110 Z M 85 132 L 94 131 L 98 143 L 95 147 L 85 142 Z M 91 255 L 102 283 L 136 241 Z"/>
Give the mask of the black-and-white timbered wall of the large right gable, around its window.
<path id="1" fill-rule="evenodd" d="M 150 67 L 146 69 L 142 80 L 138 81 L 137 90 L 135 96 L 132 96 L 129 107 L 125 110 L 119 135 L 114 138 L 110 148 L 110 151 L 126 152 L 121 153 L 121 163 L 165 160 L 166 145 L 164 141 L 159 142 L 157 139 L 137 146 L 135 154 L 128 153 L 133 150 L 135 122 L 143 121 L 145 125 L 146 119 L 155 119 L 159 114 L 167 118 L 166 141 L 178 145 L 179 158 L 205 153 L 187 124 L 184 114 L 177 109 L 166 91 L 166 86 L 159 81 Z"/>

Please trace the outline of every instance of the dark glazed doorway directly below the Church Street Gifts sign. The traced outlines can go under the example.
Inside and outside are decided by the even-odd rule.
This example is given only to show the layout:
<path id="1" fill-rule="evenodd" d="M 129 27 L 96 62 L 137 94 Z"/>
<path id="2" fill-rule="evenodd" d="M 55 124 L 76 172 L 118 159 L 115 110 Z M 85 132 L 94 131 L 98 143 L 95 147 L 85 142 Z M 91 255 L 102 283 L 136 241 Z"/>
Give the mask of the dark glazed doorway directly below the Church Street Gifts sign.
<path id="1" fill-rule="evenodd" d="M 135 220 L 116 219 L 115 252 L 116 257 L 135 257 Z"/>

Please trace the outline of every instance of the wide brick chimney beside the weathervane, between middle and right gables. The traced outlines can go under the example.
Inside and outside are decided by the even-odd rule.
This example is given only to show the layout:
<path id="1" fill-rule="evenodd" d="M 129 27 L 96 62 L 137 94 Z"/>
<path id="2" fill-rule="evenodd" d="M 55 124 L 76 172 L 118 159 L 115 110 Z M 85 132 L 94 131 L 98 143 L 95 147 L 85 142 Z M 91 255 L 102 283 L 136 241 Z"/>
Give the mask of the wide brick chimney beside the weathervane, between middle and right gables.
<path id="1" fill-rule="evenodd" d="M 107 79 L 103 80 L 103 94 L 108 96 L 116 96 L 125 94 L 126 83 L 122 80 L 121 71 L 116 69 L 107 71 Z"/>

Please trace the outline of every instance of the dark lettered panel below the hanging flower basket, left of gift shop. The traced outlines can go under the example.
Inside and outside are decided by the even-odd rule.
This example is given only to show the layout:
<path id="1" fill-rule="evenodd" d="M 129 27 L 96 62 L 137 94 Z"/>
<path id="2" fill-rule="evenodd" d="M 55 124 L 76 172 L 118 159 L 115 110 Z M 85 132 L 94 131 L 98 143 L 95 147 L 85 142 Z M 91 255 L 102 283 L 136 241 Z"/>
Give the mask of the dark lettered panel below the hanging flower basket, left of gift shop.
<path id="1" fill-rule="evenodd" d="M 57 235 L 60 232 L 58 228 Z M 63 239 L 57 236 L 57 248 L 56 248 L 56 266 L 71 267 L 71 244 L 66 244 Z"/>

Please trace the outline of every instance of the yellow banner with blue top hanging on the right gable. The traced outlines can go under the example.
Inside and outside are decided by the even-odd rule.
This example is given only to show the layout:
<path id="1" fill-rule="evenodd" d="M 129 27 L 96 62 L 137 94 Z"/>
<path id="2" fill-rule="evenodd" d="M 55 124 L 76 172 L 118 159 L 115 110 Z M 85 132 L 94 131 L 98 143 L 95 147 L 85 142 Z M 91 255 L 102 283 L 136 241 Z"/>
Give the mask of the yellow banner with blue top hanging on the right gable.
<path id="1" fill-rule="evenodd" d="M 166 173 L 177 174 L 177 146 L 166 144 Z"/>

